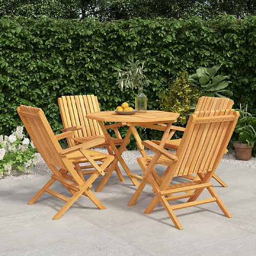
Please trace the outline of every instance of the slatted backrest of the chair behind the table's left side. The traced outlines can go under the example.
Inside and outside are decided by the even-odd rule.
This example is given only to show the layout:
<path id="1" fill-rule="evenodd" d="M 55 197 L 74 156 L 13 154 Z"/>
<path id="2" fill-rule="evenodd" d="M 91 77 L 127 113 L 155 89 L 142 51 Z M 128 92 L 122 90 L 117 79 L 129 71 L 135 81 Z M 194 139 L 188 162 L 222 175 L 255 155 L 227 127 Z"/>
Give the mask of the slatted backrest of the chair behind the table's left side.
<path id="1" fill-rule="evenodd" d="M 87 114 L 100 111 L 96 96 L 61 96 L 58 104 L 64 128 L 82 126 L 82 130 L 75 131 L 75 138 L 103 135 L 98 122 L 86 118 Z"/>

